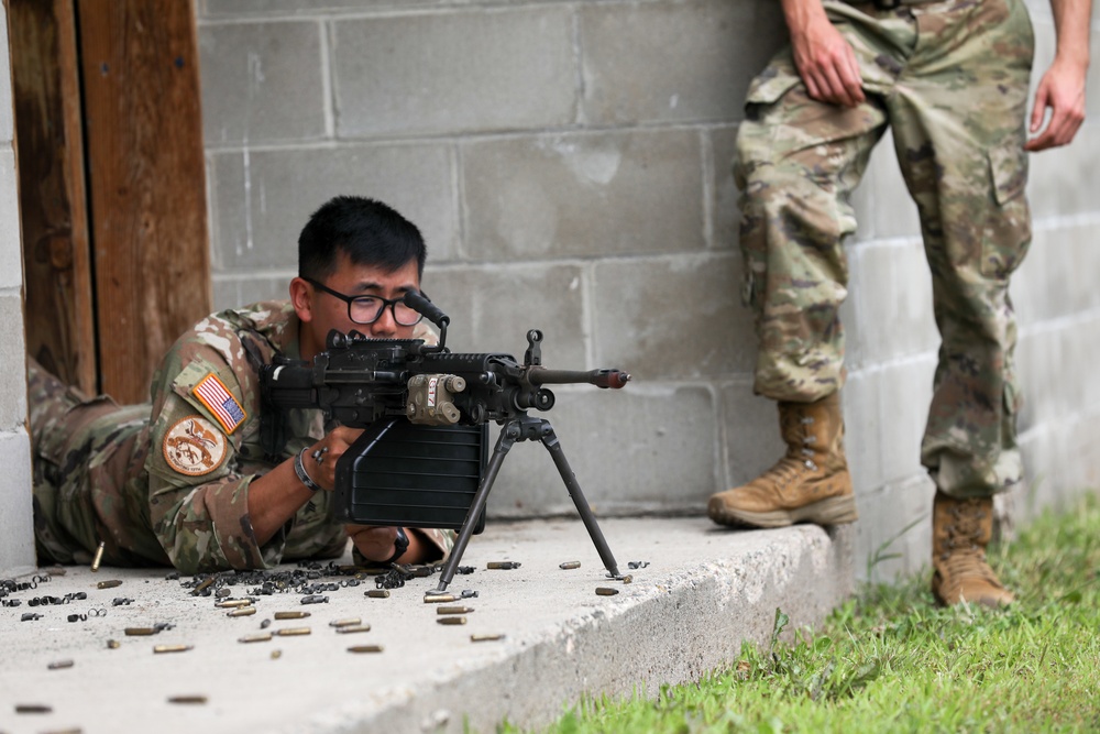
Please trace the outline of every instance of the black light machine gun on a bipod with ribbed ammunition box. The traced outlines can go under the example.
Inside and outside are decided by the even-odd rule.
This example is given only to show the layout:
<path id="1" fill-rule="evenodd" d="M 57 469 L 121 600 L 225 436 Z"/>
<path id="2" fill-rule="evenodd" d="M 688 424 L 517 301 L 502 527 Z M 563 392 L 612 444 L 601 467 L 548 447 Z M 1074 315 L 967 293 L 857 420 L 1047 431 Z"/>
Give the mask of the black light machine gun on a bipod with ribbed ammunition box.
<path id="1" fill-rule="evenodd" d="M 517 441 L 540 440 L 576 506 L 600 559 L 612 577 L 618 567 L 550 421 L 528 415 L 549 410 L 546 385 L 582 383 L 622 387 L 619 370 L 588 372 L 542 366 L 542 332 L 527 332 L 519 363 L 510 354 L 451 353 L 450 318 L 420 293 L 404 303 L 440 330 L 439 344 L 422 339 L 369 339 L 358 331 L 331 331 L 312 365 L 276 357 L 261 369 L 264 399 L 261 430 L 267 445 L 283 437 L 283 412 L 320 408 L 327 419 L 364 428 L 337 462 L 337 518 L 362 525 L 458 529 L 443 566 L 442 593 L 454 578 L 470 536 L 484 527 L 485 503 L 504 458 Z M 487 457 L 487 424 L 501 424 Z M 275 432 L 276 435 L 272 435 Z"/>

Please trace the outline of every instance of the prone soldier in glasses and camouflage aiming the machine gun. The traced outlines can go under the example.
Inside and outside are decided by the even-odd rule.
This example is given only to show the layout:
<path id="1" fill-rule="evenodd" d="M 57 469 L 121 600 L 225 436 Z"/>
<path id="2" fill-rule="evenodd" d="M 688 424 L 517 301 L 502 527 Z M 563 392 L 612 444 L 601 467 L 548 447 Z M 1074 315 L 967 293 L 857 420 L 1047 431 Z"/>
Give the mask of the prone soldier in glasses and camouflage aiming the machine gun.
<path id="1" fill-rule="evenodd" d="M 108 565 L 262 569 L 339 557 L 349 537 L 376 563 L 444 556 L 451 533 L 334 516 L 337 461 L 362 429 L 295 408 L 278 453 L 261 440 L 260 370 L 276 355 L 309 363 L 332 330 L 435 343 L 403 302 L 419 292 L 425 259 L 397 211 L 338 196 L 301 231 L 289 300 L 196 324 L 157 368 L 150 404 L 85 396 L 29 360 L 40 562 L 88 562 L 102 543 Z"/>

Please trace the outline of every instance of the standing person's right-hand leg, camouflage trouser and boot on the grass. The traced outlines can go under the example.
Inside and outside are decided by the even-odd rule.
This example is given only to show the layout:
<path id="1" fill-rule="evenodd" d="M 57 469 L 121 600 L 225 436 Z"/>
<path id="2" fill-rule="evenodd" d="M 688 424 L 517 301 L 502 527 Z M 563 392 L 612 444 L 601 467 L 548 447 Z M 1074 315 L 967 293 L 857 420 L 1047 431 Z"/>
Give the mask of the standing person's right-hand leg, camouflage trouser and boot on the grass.
<path id="1" fill-rule="evenodd" d="M 1023 145 L 1032 32 L 1022 0 L 935 6 L 917 15 L 912 76 L 890 100 L 943 338 L 921 452 L 937 487 L 933 592 L 945 604 L 997 605 L 1012 595 L 985 556 L 992 495 L 1022 478 L 1009 278 L 1031 241 Z"/>

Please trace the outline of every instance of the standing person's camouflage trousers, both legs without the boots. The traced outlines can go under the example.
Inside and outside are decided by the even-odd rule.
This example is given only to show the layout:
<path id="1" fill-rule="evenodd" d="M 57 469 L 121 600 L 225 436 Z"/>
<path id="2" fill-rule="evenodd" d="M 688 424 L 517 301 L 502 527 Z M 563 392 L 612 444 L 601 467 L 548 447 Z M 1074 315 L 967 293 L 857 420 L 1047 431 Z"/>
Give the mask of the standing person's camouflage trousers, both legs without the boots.
<path id="1" fill-rule="evenodd" d="M 848 109 L 810 99 L 787 50 L 754 80 L 738 136 L 756 391 L 811 402 L 843 385 L 842 241 L 856 229 L 851 191 L 889 125 L 920 212 L 943 338 L 922 462 L 949 494 L 989 495 L 1022 473 L 1008 288 L 1031 241 L 1031 21 L 1023 0 L 825 7 L 855 50 L 867 101 Z"/>

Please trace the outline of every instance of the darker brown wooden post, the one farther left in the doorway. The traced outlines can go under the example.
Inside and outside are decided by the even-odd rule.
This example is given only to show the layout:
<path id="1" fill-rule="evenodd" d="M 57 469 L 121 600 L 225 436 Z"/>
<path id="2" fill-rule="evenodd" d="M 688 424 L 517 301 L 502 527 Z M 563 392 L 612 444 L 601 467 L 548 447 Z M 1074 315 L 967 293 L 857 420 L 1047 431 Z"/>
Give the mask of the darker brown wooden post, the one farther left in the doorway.
<path id="1" fill-rule="evenodd" d="M 95 393 L 96 324 L 73 0 L 9 0 L 26 350 Z"/>

